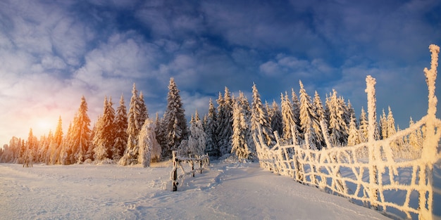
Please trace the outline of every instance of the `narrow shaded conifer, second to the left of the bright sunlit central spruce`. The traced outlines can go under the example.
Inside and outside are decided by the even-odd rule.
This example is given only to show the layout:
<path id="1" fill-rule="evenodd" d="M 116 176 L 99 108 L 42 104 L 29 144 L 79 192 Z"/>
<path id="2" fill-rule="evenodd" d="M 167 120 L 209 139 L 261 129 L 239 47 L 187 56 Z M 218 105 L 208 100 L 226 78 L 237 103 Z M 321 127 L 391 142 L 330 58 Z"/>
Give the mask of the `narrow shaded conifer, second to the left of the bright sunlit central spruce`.
<path id="1" fill-rule="evenodd" d="M 210 98 L 209 102 L 209 112 L 206 116 L 206 153 L 211 157 L 220 157 L 219 148 L 217 147 L 216 141 L 216 128 L 217 128 L 217 117 L 216 117 L 216 108 L 214 108 L 213 100 Z"/>

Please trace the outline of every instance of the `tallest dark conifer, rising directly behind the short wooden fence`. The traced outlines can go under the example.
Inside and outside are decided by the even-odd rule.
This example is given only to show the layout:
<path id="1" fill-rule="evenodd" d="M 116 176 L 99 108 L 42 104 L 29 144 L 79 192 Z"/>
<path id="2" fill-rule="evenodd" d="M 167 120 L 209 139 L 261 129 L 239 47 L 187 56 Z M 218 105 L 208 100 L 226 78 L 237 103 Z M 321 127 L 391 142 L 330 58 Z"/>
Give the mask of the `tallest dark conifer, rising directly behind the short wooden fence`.
<path id="1" fill-rule="evenodd" d="M 172 151 L 177 150 L 180 142 L 187 139 L 187 119 L 185 119 L 185 110 L 179 94 L 175 79 L 170 78 L 168 84 L 167 109 L 164 114 L 164 125 L 166 126 L 166 157 L 172 156 Z"/>

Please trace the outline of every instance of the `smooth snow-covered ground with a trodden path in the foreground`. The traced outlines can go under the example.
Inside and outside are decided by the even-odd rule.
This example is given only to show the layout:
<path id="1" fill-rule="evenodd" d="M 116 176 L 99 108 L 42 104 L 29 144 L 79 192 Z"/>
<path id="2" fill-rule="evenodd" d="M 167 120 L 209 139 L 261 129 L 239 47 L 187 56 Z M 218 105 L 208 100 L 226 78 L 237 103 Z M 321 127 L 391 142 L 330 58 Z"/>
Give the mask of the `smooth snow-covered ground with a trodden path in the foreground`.
<path id="1" fill-rule="evenodd" d="M 259 163 L 213 162 L 178 192 L 171 169 L 0 164 L 0 219 L 387 219 Z"/>

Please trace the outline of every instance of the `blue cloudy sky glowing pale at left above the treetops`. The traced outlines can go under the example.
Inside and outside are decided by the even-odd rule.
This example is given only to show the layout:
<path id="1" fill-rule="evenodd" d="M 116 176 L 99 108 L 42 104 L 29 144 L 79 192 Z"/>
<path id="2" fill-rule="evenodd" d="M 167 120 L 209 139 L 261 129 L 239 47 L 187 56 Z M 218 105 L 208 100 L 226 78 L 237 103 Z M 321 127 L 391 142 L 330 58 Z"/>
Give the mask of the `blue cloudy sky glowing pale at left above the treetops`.
<path id="1" fill-rule="evenodd" d="M 0 0 L 0 144 L 48 134 L 58 117 L 66 134 L 82 96 L 92 127 L 104 96 L 128 105 L 134 83 L 161 116 L 170 77 L 187 117 L 225 86 L 249 96 L 256 84 L 280 103 L 299 80 L 323 103 L 335 89 L 359 117 L 372 75 L 378 115 L 390 106 L 404 129 L 427 112 L 423 69 L 428 46 L 441 44 L 440 11 L 437 0 Z"/>

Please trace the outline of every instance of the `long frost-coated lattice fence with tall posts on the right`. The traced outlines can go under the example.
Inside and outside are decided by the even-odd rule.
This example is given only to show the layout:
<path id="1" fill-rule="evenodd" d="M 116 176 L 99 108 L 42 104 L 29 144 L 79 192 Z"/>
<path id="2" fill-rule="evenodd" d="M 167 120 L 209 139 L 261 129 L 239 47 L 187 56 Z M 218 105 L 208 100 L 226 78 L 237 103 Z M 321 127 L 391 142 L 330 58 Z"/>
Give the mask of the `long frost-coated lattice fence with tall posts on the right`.
<path id="1" fill-rule="evenodd" d="M 421 120 L 385 140 L 375 140 L 375 79 L 368 76 L 367 143 L 333 148 L 328 141 L 323 150 L 280 143 L 269 147 L 260 132 L 254 142 L 261 167 L 396 218 L 433 219 L 433 193 L 441 192 L 433 186 L 433 164 L 441 159 L 441 120 L 435 116 L 440 48 L 429 48 L 431 68 L 424 70 L 429 90 L 428 114 Z M 409 141 L 416 132 L 423 133 L 419 145 Z"/>

